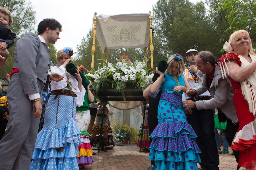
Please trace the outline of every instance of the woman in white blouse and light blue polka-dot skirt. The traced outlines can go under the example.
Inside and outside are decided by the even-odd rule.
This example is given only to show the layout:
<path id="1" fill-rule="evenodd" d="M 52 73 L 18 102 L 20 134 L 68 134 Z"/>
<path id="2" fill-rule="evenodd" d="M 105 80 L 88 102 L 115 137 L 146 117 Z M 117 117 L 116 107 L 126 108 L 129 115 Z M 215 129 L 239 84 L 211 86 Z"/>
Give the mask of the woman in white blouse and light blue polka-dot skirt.
<path id="1" fill-rule="evenodd" d="M 59 73 L 64 80 L 51 81 L 52 93 L 46 106 L 44 127 L 37 135 L 29 170 L 79 169 L 76 156 L 82 142 L 75 117 L 76 104 L 83 104 L 85 89 L 79 69 L 75 76 L 66 71 L 66 65 L 74 61 L 70 59 L 72 54 L 70 48 L 59 50 L 59 67 L 51 67 L 51 73 Z"/>

